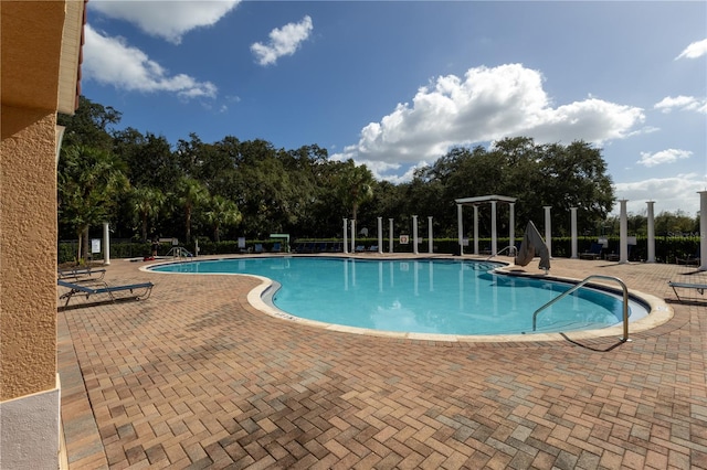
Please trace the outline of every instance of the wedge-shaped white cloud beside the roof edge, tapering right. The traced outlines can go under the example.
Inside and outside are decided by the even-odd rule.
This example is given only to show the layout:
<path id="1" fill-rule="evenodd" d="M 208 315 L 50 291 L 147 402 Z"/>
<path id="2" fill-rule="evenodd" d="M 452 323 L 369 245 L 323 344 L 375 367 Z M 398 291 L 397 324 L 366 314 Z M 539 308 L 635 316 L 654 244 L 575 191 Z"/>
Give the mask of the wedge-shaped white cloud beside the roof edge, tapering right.
<path id="1" fill-rule="evenodd" d="M 210 82 L 198 82 L 186 75 L 170 75 L 157 62 L 122 38 L 108 38 L 85 28 L 83 71 L 86 79 L 128 92 L 175 93 L 180 98 L 214 98 L 217 87 Z"/>

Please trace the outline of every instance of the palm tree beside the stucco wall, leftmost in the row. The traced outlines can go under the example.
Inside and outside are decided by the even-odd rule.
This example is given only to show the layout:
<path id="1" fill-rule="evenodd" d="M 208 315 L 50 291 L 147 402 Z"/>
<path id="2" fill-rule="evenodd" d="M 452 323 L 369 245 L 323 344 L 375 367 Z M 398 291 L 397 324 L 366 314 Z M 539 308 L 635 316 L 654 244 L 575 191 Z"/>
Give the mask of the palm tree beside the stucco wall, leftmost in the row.
<path id="1" fill-rule="evenodd" d="M 59 217 L 74 227 L 77 259 L 88 253 L 88 228 L 108 221 L 120 194 L 129 189 L 125 165 L 105 150 L 73 146 L 62 152 L 57 169 Z"/>

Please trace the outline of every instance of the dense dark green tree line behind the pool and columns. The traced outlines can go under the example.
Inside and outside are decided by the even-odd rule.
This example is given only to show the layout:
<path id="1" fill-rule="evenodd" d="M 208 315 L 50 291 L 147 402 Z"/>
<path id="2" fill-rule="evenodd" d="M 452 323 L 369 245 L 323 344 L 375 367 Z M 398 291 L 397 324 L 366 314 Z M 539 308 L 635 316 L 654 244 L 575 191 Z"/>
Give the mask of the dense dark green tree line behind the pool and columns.
<path id="1" fill-rule="evenodd" d="M 393 218 L 397 234 L 410 233 L 419 215 L 422 224 L 433 216 L 435 236 L 455 237 L 454 200 L 486 194 L 518 199 L 516 233 L 529 220 L 542 223 L 542 206 L 551 205 L 553 233 L 567 234 L 569 209 L 579 207 L 580 233 L 593 234 L 615 202 L 601 149 L 583 141 L 538 145 L 515 137 L 488 149 L 455 147 L 412 181 L 393 184 L 352 160 L 329 159 L 316 143 L 286 150 L 262 139 L 225 136 L 209 143 L 190 133 L 172 146 L 149 131 L 116 129 L 120 117 L 83 96 L 74 116 L 60 116 L 66 128 L 57 168 L 60 237 L 82 239 L 82 253 L 89 231 L 104 222 L 118 238 L 189 243 L 271 233 L 340 238 L 345 217 L 371 234 L 378 216 Z M 507 211 L 499 204 L 499 233 L 508 231 Z M 489 211 L 479 215 L 479 233 L 489 233 Z M 464 217 L 471 229 L 472 211 Z"/>

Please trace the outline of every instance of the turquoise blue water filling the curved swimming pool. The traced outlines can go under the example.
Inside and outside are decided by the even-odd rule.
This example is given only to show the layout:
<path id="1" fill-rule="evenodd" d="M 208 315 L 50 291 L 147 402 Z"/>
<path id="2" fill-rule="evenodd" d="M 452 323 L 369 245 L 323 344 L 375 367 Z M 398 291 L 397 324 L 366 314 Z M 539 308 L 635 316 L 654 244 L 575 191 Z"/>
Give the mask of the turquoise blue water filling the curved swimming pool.
<path id="1" fill-rule="evenodd" d="M 472 260 L 262 257 L 168 264 L 161 273 L 250 274 L 282 285 L 274 305 L 295 317 L 348 327 L 436 334 L 532 333 L 535 310 L 571 285 L 492 274 Z M 228 292 L 224 292 L 224 295 Z M 630 314 L 645 309 L 630 302 Z M 579 289 L 537 317 L 537 332 L 621 323 L 620 297 Z"/>

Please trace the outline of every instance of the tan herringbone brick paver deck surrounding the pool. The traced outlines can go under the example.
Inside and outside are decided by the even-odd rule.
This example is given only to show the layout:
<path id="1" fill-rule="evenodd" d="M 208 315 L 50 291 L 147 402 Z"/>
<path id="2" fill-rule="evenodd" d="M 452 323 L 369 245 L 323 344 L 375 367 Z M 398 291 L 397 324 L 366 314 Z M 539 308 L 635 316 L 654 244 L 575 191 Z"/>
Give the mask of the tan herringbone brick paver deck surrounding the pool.
<path id="1" fill-rule="evenodd" d="M 149 299 L 60 308 L 71 469 L 707 469 L 707 292 L 667 285 L 706 285 L 695 266 L 552 260 L 665 302 L 622 342 L 352 334 L 264 314 L 257 279 L 146 265 L 105 280 Z"/>

